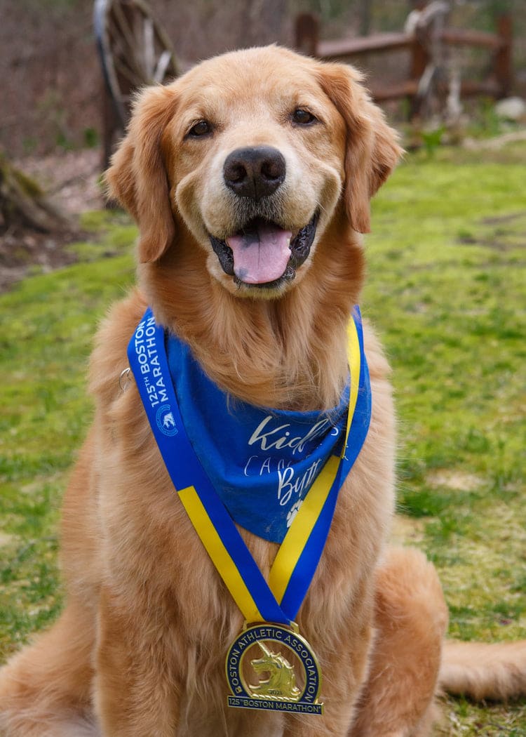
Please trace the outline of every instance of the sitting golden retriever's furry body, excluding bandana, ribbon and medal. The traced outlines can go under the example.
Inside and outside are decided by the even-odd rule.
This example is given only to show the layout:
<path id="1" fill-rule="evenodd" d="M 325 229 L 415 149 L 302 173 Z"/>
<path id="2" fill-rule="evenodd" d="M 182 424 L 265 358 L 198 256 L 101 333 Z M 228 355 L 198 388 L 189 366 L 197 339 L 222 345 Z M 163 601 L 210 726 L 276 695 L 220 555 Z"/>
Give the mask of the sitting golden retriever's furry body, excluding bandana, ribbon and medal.
<path id="1" fill-rule="evenodd" d="M 63 506 L 66 607 L 0 672 L 4 737 L 421 737 L 440 686 L 524 691 L 524 643 L 443 655 L 435 570 L 386 544 L 395 423 L 369 326 L 371 424 L 297 617 L 323 673 L 323 716 L 227 705 L 225 657 L 243 615 L 175 493 L 136 382 L 119 387 L 149 305 L 234 413 L 236 400 L 337 405 L 365 272 L 360 234 L 400 154 L 360 74 L 276 46 L 140 94 L 107 175 L 140 229 L 138 289 L 99 330 L 94 425 Z M 239 531 L 267 577 L 278 545 Z"/>

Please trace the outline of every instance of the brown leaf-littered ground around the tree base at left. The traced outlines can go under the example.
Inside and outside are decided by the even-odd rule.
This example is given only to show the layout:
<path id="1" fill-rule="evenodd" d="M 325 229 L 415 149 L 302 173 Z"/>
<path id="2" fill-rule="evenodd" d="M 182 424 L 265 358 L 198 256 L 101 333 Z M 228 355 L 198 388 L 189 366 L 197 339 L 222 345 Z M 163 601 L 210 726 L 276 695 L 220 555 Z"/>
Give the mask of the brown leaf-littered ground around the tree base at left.
<path id="1" fill-rule="evenodd" d="M 75 261 L 65 246 L 83 237 L 79 215 L 104 206 L 98 149 L 35 156 L 14 162 L 34 178 L 68 217 L 70 228 L 56 233 L 8 229 L 0 235 L 0 293 L 35 269 L 49 271 Z"/>

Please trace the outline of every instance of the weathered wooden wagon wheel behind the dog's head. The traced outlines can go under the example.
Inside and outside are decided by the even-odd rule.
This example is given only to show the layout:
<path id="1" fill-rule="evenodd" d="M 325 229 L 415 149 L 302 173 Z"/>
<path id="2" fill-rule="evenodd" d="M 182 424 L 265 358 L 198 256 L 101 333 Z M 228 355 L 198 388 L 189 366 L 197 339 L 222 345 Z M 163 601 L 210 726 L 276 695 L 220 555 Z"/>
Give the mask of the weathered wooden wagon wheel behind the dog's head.
<path id="1" fill-rule="evenodd" d="M 144 0 L 95 0 L 94 26 L 105 83 L 125 128 L 133 91 L 177 77 L 179 63 Z"/>

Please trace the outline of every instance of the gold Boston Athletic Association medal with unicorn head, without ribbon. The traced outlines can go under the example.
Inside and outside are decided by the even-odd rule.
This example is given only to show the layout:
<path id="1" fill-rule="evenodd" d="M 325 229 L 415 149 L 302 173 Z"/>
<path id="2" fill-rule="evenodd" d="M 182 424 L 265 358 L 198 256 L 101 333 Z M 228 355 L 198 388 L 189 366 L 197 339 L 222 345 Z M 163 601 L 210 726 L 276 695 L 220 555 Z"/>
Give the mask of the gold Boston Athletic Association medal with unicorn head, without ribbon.
<path id="1" fill-rule="evenodd" d="M 323 714 L 320 666 L 297 630 L 271 622 L 245 626 L 226 657 L 228 706 Z"/>

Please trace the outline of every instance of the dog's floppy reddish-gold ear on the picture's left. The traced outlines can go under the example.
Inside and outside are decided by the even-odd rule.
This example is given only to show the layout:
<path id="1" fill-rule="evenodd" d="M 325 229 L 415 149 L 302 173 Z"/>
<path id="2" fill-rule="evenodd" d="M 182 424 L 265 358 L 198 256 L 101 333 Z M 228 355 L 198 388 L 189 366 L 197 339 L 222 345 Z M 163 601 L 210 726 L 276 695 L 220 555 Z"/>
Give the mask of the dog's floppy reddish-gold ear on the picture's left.
<path id="1" fill-rule="evenodd" d="M 108 194 L 124 206 L 140 230 L 138 259 L 157 261 L 175 234 L 161 136 L 175 114 L 170 87 L 149 87 L 136 98 L 125 139 L 105 174 Z"/>

